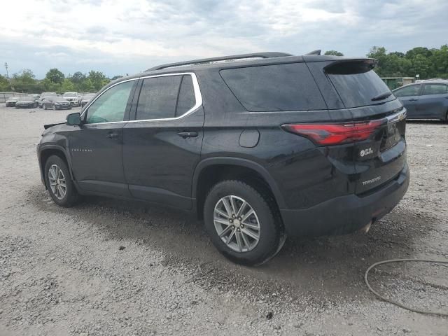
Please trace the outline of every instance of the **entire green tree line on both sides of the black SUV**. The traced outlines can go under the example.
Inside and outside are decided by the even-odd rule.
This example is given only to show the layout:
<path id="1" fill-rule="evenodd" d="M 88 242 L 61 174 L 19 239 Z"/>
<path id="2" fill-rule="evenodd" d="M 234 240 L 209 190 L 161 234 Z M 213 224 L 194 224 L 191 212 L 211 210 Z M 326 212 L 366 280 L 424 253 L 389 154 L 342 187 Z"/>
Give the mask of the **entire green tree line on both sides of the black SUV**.
<path id="1" fill-rule="evenodd" d="M 328 50 L 325 55 L 344 56 L 337 50 Z M 407 52 L 387 52 L 386 48 L 374 46 L 367 57 L 378 59 L 377 71 L 381 77 L 415 77 L 448 78 L 448 45 L 440 48 L 416 47 Z M 0 75 L 0 91 L 15 91 L 25 93 L 50 92 L 97 92 L 111 80 L 120 78 L 115 76 L 107 78 L 100 71 L 90 71 L 84 74 L 80 71 L 73 75 L 64 76 L 58 69 L 50 69 L 43 80 L 36 80 L 34 73 L 25 69 L 14 73 L 12 78 Z"/>

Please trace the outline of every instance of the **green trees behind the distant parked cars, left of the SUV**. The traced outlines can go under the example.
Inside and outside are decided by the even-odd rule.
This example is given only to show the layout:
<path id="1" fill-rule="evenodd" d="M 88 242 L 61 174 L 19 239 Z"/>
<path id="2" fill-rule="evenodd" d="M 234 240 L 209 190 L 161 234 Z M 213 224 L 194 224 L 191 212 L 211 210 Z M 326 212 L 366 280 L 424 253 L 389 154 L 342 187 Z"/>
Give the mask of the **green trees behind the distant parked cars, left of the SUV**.
<path id="1" fill-rule="evenodd" d="M 58 69 L 50 69 L 43 80 L 37 80 L 33 71 L 24 69 L 14 73 L 11 78 L 0 75 L 0 91 L 15 91 L 25 93 L 41 92 L 97 92 L 111 80 L 120 78 L 115 76 L 107 78 L 100 71 L 90 71 L 84 74 L 76 71 L 73 75 L 65 76 Z"/>

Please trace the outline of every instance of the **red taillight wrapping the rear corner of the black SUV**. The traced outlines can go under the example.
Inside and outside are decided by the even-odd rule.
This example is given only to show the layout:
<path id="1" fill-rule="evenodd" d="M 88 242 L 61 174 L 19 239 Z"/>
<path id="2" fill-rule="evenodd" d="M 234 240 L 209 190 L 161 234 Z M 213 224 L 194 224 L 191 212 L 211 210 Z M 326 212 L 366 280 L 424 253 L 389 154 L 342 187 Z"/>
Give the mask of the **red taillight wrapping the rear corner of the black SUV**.
<path id="1" fill-rule="evenodd" d="M 287 124 L 283 130 L 307 137 L 317 145 L 330 146 L 368 139 L 386 118 L 356 123 Z"/>

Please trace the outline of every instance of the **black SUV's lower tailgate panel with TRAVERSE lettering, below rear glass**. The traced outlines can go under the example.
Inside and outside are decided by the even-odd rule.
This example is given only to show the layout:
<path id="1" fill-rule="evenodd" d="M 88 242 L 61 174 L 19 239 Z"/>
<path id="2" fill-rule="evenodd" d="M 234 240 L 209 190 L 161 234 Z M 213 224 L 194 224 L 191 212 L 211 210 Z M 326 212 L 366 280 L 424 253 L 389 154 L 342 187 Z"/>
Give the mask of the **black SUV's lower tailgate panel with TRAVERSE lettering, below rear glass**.
<path id="1" fill-rule="evenodd" d="M 374 136 L 355 144 L 356 194 L 395 179 L 406 162 L 406 109 L 386 116 Z"/>

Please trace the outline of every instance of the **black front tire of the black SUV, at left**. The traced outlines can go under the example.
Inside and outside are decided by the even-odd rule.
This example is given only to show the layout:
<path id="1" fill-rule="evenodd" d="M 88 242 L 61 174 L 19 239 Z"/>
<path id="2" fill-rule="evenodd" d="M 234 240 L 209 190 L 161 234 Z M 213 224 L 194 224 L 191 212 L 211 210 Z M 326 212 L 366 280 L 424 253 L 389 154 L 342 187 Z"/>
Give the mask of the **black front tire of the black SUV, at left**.
<path id="1" fill-rule="evenodd" d="M 58 174 L 58 170 L 55 168 L 59 168 L 62 174 Z M 52 172 L 50 172 L 52 170 Z M 51 183 L 55 183 L 55 177 L 59 180 L 59 187 L 52 187 Z M 60 190 L 64 190 L 62 188 L 62 178 L 65 181 L 65 193 L 62 195 Z M 71 181 L 71 176 L 69 172 L 69 167 L 67 167 L 66 162 L 59 158 L 57 155 L 52 155 L 45 162 L 45 184 L 48 188 L 48 193 L 50 193 L 50 197 L 52 200 L 61 207 L 73 207 L 76 202 L 78 202 L 79 195 L 76 190 L 73 181 Z M 54 189 L 53 189 L 54 188 Z"/>

